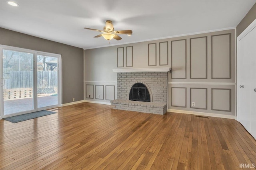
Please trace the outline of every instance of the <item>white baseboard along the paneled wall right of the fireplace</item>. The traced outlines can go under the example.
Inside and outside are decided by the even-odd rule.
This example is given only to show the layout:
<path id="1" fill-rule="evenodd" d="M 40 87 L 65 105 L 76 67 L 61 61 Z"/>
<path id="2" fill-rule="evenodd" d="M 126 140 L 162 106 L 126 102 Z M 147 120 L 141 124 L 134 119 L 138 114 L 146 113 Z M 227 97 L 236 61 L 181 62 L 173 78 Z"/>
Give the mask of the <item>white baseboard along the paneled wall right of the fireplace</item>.
<path id="1" fill-rule="evenodd" d="M 191 114 L 191 115 L 220 117 L 220 118 L 227 118 L 227 119 L 235 119 L 236 120 L 236 116 L 233 116 L 233 115 L 222 115 L 222 114 L 216 114 L 216 113 L 204 113 L 204 112 L 197 112 L 197 111 L 186 111 L 186 110 L 175 110 L 175 109 L 167 109 L 167 111 L 168 112 L 174 112 L 174 113 L 185 113 L 185 114 Z"/>

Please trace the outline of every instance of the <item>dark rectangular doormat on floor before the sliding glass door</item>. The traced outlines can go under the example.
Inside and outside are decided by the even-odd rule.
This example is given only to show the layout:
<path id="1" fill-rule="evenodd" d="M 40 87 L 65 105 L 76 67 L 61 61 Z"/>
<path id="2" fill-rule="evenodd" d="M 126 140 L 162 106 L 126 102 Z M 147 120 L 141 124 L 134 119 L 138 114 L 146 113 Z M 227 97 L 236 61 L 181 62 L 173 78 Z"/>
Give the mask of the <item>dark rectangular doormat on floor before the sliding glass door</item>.
<path id="1" fill-rule="evenodd" d="M 33 113 L 27 113 L 27 114 L 24 114 L 24 115 L 6 117 L 6 118 L 4 118 L 4 120 L 10 121 L 12 123 L 17 123 L 17 122 L 21 122 L 21 121 L 25 121 L 25 120 L 29 120 L 29 119 L 34 119 L 34 118 L 37 118 L 37 117 L 51 115 L 53 113 L 57 113 L 57 112 L 42 110 L 42 111 L 36 111 L 36 112 L 33 112 Z"/>

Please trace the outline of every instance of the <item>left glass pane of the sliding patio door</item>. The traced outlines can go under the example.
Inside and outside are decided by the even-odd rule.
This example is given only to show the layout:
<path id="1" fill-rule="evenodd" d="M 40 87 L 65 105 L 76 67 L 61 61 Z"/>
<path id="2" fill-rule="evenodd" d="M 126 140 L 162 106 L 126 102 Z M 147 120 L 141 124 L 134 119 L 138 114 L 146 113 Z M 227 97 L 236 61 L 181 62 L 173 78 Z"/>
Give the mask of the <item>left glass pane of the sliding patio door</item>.
<path id="1" fill-rule="evenodd" d="M 4 115 L 34 109 L 33 54 L 3 50 Z"/>

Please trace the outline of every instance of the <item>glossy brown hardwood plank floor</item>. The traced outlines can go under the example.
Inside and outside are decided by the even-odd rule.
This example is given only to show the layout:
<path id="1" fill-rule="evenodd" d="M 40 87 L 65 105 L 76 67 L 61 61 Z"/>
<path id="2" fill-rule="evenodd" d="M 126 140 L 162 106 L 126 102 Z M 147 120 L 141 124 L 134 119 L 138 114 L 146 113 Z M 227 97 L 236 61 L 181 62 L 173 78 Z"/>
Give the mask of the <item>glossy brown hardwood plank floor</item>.
<path id="1" fill-rule="evenodd" d="M 233 119 L 154 115 L 90 103 L 56 111 L 20 123 L 0 120 L 1 170 L 236 170 L 241 163 L 256 165 L 256 141 Z"/>

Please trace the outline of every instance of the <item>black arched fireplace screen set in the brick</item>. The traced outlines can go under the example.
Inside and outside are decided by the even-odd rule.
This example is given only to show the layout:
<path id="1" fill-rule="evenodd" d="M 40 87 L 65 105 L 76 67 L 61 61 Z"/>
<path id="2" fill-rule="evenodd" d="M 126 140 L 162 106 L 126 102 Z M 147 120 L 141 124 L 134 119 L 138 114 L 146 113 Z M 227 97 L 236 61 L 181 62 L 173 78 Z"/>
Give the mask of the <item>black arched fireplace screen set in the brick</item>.
<path id="1" fill-rule="evenodd" d="M 150 102 L 150 95 L 147 87 L 142 83 L 135 83 L 130 90 L 129 100 Z"/>

